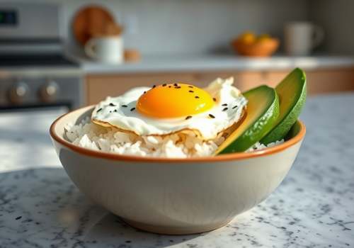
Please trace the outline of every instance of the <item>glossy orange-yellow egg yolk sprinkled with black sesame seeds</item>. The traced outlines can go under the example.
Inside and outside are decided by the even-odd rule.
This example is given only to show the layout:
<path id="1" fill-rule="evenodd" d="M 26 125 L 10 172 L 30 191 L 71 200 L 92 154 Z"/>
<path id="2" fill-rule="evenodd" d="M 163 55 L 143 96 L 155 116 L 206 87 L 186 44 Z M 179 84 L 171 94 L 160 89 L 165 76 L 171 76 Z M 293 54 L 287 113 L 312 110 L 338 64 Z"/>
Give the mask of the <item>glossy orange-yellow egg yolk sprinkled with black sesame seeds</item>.
<path id="1" fill-rule="evenodd" d="M 142 94 L 137 111 L 153 118 L 187 117 L 214 106 L 210 94 L 189 84 L 162 84 Z"/>

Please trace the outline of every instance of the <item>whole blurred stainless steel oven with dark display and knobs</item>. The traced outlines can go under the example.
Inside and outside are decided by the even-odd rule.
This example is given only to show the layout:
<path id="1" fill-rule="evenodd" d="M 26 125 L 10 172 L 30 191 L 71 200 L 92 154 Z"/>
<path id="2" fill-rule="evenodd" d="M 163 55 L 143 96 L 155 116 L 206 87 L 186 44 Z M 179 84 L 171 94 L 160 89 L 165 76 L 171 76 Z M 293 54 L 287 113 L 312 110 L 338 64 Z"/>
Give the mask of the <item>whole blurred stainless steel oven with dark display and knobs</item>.
<path id="1" fill-rule="evenodd" d="M 0 111 L 84 103 L 81 69 L 64 55 L 61 21 L 57 4 L 0 3 Z"/>

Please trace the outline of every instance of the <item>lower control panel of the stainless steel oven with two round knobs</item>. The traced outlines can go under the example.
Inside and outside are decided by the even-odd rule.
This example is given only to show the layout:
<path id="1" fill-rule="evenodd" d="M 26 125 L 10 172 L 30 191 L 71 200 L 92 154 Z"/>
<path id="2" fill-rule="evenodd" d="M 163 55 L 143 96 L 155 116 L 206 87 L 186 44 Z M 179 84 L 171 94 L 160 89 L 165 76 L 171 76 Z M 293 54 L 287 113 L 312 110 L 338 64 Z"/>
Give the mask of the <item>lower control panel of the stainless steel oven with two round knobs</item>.
<path id="1" fill-rule="evenodd" d="M 56 106 L 70 110 L 82 105 L 82 93 L 81 76 L 76 69 L 0 69 L 0 111 Z"/>

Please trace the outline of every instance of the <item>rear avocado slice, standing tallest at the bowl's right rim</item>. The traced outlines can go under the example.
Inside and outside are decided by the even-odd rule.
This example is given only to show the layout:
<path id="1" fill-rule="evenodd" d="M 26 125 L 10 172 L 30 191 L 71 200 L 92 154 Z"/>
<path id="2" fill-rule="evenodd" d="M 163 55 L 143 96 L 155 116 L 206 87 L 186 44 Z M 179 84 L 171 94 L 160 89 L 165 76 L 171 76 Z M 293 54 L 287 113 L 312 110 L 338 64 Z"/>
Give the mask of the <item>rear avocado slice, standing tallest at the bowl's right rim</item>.
<path id="1" fill-rule="evenodd" d="M 275 87 L 279 96 L 280 114 L 272 130 L 260 141 L 264 145 L 282 140 L 296 122 L 306 101 L 306 75 L 296 68 Z"/>

